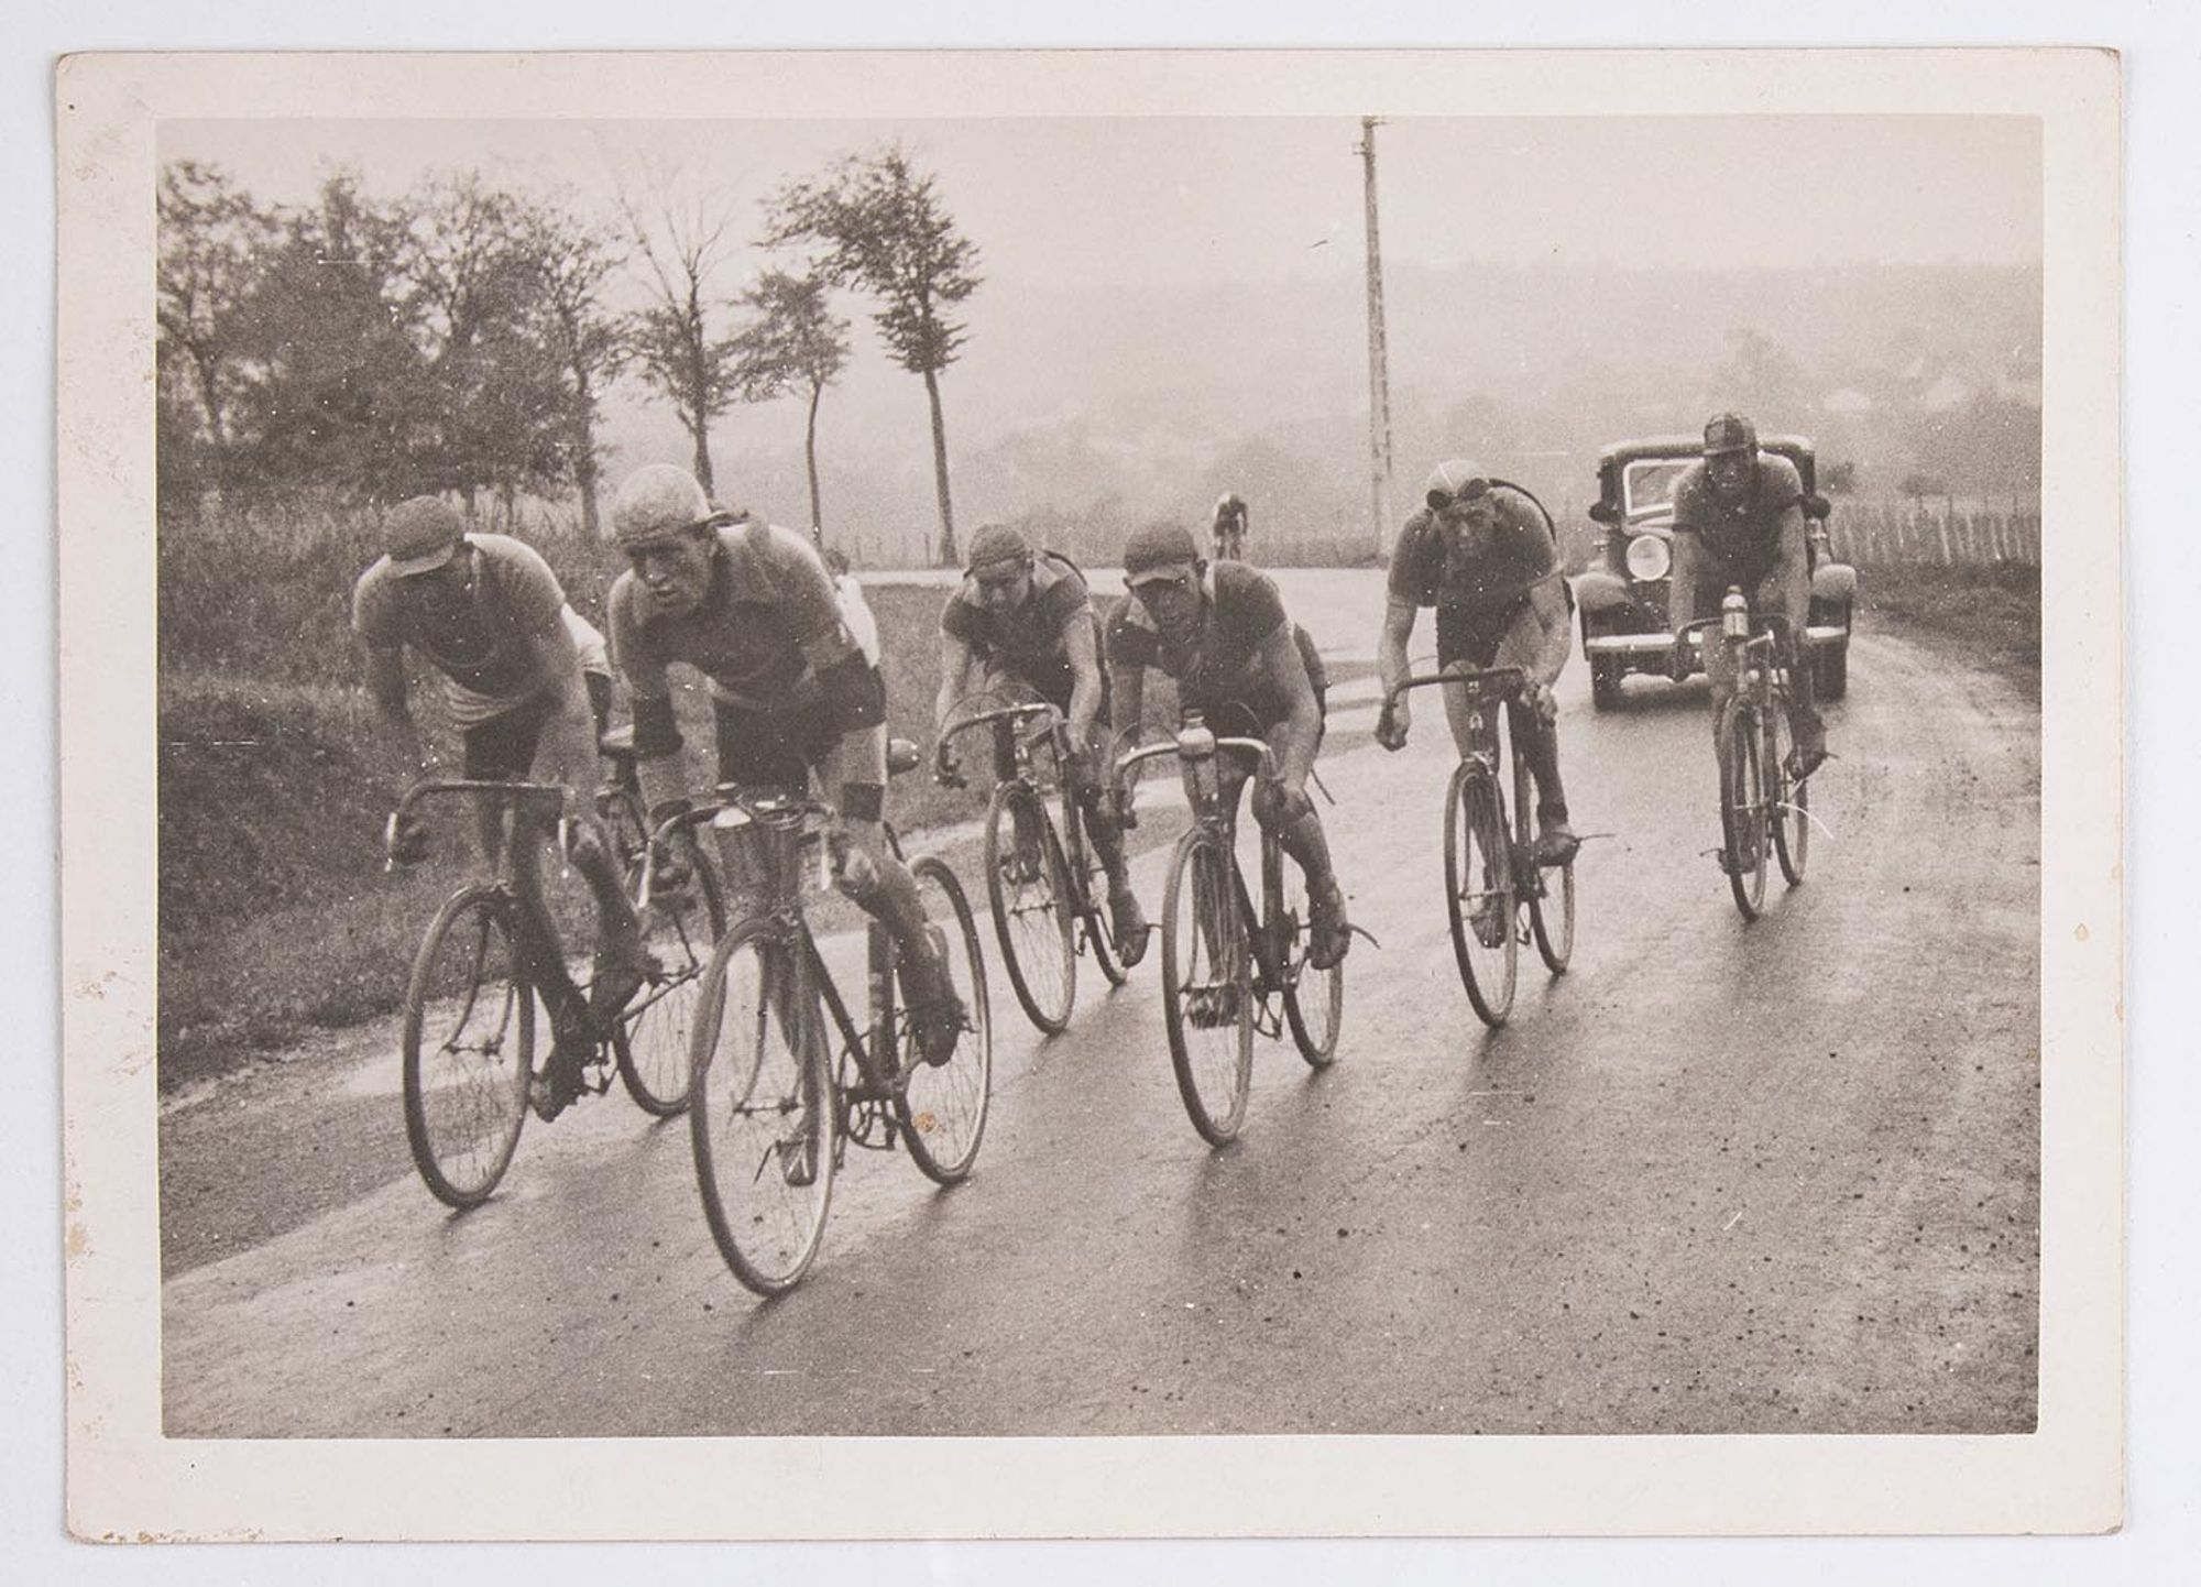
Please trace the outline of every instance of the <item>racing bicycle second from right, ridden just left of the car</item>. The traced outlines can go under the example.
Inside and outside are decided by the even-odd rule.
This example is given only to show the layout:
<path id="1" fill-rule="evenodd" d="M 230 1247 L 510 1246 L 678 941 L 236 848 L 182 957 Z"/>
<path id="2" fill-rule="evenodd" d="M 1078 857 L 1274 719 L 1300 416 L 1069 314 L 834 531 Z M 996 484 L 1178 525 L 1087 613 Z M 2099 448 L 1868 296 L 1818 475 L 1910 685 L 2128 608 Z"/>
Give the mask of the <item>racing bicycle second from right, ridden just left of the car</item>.
<path id="1" fill-rule="evenodd" d="M 1444 907 L 1459 984 L 1492 1030 L 1512 1015 L 1523 942 L 1536 944 L 1552 975 L 1565 975 L 1574 957 L 1574 858 L 1536 863 L 1527 759 L 1508 755 L 1508 733 L 1499 726 L 1525 682 L 1519 667 L 1457 667 L 1400 685 L 1400 693 L 1431 685 L 1466 693 L 1475 748 L 1459 757 L 1444 790 Z M 1512 821 L 1505 759 L 1512 759 Z"/>

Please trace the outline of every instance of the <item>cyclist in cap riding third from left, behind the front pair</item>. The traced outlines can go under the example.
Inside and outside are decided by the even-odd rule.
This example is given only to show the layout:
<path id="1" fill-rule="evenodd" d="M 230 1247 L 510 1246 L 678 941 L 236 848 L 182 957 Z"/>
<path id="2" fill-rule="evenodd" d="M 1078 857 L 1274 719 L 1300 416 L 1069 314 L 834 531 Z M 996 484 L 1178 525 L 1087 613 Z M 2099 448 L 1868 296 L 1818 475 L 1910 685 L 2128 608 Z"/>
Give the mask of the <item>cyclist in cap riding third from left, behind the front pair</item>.
<path id="1" fill-rule="evenodd" d="M 971 537 L 962 588 L 940 612 L 940 698 L 933 729 L 973 689 L 1023 685 L 1063 713 L 1070 764 L 1063 775 L 1085 812 L 1094 854 L 1107 872 L 1107 907 L 1125 966 L 1147 953 L 1147 918 L 1125 876 L 1123 821 L 1103 797 L 1107 768 L 1107 674 L 1100 667 L 1100 621 L 1085 574 L 1059 552 L 1034 552 L 1008 524 L 986 524 Z M 935 770 L 955 775 L 953 746 L 942 740 Z"/>

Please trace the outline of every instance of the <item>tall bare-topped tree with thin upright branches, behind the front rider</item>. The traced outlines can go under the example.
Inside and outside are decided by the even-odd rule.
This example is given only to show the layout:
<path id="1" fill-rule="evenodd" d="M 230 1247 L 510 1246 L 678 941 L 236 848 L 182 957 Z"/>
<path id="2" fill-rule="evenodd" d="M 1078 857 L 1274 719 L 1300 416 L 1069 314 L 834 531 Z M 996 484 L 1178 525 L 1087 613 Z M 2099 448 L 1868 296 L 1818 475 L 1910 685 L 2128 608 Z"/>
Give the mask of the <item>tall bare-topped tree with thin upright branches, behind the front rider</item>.
<path id="1" fill-rule="evenodd" d="M 680 412 L 680 425 L 696 442 L 696 480 L 704 493 L 711 480 L 711 420 L 735 398 L 733 348 L 711 330 L 709 282 L 726 255 L 729 214 L 709 198 L 682 205 L 667 185 L 645 216 L 621 189 L 618 211 L 643 255 L 649 308 L 640 310 L 627 341 L 643 379 L 665 392 Z"/>

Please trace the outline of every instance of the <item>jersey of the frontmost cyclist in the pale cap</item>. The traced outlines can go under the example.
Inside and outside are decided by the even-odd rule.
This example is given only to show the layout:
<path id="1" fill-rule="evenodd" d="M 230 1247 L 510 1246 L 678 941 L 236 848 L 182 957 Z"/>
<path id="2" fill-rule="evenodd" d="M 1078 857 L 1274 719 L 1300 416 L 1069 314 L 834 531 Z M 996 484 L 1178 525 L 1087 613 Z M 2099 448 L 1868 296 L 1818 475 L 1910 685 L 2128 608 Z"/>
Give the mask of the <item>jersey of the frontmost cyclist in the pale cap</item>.
<path id="1" fill-rule="evenodd" d="M 720 704 L 810 711 L 823 702 L 812 656 L 858 649 L 810 541 L 759 519 L 718 530 L 711 588 L 693 610 L 658 612 L 632 570 L 612 583 L 605 610 L 612 658 L 636 700 L 669 698 L 667 667 L 687 663 Z"/>

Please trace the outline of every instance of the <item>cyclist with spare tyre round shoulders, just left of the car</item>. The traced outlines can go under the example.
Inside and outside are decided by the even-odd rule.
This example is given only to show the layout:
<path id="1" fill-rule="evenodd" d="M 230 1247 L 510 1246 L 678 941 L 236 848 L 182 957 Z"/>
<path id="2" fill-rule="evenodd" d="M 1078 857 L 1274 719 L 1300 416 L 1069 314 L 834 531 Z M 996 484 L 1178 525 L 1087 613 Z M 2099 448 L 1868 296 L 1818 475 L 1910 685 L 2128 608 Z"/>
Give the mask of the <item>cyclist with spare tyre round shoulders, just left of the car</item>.
<path id="1" fill-rule="evenodd" d="M 1490 480 L 1466 460 L 1439 462 L 1422 486 L 1422 508 L 1406 519 L 1391 552 L 1382 638 L 1376 665 L 1384 709 L 1376 740 L 1404 748 L 1411 713 L 1406 641 L 1420 608 L 1437 608 L 1437 667 L 1521 667 L 1525 687 L 1508 707 L 1514 753 L 1536 777 L 1536 863 L 1565 865 L 1580 847 L 1567 825 L 1558 779 L 1558 702 L 1552 685 L 1567 665 L 1574 597 L 1558 570 L 1543 511 L 1519 486 Z M 1468 755 L 1468 691 L 1444 687 L 1453 744 Z"/>

